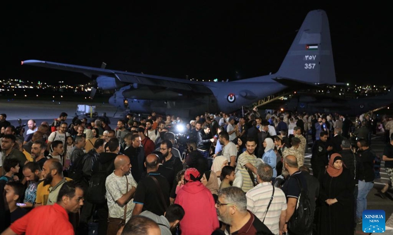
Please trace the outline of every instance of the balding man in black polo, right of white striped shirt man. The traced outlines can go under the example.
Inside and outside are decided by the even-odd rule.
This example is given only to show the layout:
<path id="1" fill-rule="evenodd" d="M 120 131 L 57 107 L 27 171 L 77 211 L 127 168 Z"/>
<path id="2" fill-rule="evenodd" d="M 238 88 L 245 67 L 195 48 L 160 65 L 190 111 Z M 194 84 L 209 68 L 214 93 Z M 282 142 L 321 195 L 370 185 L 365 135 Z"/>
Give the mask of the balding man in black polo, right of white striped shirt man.
<path id="1" fill-rule="evenodd" d="M 306 178 L 298 168 L 298 162 L 295 156 L 288 155 L 284 158 L 284 169 L 289 172 L 289 177 L 281 188 L 285 193 L 287 201 L 286 220 L 284 228 L 281 232 L 286 233 L 288 229 L 290 230 L 290 228 L 287 228 L 287 222 L 295 211 L 296 203 L 300 195 L 301 188 L 299 187 L 299 183 L 303 190 L 307 191 L 307 182 Z M 304 234 L 309 234 L 309 232 L 310 231 L 305 231 Z"/>

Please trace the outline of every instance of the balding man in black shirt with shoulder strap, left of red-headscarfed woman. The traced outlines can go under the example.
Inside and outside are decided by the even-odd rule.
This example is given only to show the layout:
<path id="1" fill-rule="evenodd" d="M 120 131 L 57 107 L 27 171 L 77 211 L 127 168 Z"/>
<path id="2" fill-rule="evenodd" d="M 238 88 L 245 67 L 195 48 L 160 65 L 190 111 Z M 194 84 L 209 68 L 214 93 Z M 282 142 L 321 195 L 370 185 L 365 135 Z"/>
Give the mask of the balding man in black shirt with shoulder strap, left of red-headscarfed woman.
<path id="1" fill-rule="evenodd" d="M 149 154 L 146 156 L 144 165 L 147 170 L 147 175 L 144 179 L 140 180 L 137 191 L 135 192 L 135 208 L 132 212 L 133 215 L 139 215 L 142 211 L 150 211 L 157 215 L 164 215 L 166 208 L 169 206 L 169 183 L 168 180 L 158 172 L 159 163 L 160 159 L 156 154 Z M 164 195 L 163 199 L 161 199 L 163 197 L 162 195 Z"/>

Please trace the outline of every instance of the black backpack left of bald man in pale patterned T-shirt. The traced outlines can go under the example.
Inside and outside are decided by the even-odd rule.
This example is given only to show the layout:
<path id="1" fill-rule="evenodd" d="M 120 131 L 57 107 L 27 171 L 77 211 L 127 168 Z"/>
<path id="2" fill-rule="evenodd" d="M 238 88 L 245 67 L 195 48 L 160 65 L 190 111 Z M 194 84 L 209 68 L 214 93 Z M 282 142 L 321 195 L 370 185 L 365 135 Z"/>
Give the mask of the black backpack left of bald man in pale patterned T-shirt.
<path id="1" fill-rule="evenodd" d="M 105 181 L 108 177 L 108 171 L 113 167 L 114 162 L 109 164 L 108 168 L 103 169 L 103 165 L 98 164 L 98 171 L 93 171 L 89 181 L 89 186 L 86 189 L 86 200 L 93 204 L 100 204 L 106 201 L 105 194 L 107 188 L 105 187 Z"/>

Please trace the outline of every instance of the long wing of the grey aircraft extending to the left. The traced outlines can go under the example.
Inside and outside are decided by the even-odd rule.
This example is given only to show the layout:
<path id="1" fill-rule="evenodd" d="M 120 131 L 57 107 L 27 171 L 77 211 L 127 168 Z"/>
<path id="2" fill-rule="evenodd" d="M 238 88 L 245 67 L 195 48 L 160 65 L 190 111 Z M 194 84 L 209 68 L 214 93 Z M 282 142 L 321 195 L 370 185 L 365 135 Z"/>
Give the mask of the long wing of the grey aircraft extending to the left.
<path id="1" fill-rule="evenodd" d="M 87 66 L 70 65 L 49 61 L 40 60 L 25 60 L 22 61 L 22 65 L 32 65 L 56 70 L 80 72 L 87 76 L 108 76 L 117 78 L 123 83 L 133 83 L 147 86 L 159 86 L 166 88 L 173 88 L 182 91 L 193 91 L 194 93 L 211 94 L 211 90 L 197 81 L 190 81 L 187 79 L 163 77 L 156 75 L 148 75 L 142 73 L 126 72 L 126 71 L 115 71 Z"/>

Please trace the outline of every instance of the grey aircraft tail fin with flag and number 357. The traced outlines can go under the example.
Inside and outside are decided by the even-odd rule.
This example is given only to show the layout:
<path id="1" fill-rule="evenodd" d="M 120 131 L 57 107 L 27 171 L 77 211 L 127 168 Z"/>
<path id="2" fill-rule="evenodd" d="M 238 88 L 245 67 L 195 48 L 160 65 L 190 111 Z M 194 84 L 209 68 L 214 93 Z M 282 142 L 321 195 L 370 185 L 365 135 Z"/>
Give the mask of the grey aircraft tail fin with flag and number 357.
<path id="1" fill-rule="evenodd" d="M 307 14 L 276 75 L 313 84 L 337 83 L 325 11 Z"/>

